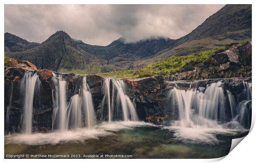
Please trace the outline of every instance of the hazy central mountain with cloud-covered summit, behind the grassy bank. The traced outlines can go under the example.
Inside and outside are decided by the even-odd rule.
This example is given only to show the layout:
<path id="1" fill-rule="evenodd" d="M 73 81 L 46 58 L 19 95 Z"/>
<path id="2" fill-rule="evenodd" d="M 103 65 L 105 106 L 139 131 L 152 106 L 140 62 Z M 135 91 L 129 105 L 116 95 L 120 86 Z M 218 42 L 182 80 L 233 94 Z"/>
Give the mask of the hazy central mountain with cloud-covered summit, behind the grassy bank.
<path id="1" fill-rule="evenodd" d="M 78 47 L 97 56 L 106 71 L 132 69 L 134 61 L 148 59 L 157 52 L 169 47 L 174 40 L 170 38 L 147 38 L 136 43 L 126 43 L 124 38 L 119 38 L 107 46 L 89 45 L 81 40 L 75 40 Z M 109 70 L 107 70 L 109 69 Z"/>

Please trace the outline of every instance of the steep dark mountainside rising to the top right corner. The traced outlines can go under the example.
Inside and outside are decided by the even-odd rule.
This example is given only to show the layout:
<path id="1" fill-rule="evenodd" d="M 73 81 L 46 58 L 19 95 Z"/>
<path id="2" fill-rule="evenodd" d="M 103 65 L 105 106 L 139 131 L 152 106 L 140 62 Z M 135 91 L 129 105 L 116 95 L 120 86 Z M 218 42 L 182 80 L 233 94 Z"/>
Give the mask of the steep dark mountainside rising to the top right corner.
<path id="1" fill-rule="evenodd" d="M 251 40 L 251 5 L 225 5 L 156 56 L 186 55 L 248 40 Z"/>

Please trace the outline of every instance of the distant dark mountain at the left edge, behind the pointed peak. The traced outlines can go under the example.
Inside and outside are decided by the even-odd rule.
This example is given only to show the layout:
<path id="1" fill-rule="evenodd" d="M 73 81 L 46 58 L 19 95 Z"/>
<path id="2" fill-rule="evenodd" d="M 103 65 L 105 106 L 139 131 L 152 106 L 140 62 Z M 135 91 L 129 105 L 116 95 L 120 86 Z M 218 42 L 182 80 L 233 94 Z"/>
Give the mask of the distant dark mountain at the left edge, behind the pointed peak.
<path id="1" fill-rule="evenodd" d="M 39 43 L 30 43 L 11 33 L 5 33 L 5 52 L 22 52 L 39 45 Z"/>

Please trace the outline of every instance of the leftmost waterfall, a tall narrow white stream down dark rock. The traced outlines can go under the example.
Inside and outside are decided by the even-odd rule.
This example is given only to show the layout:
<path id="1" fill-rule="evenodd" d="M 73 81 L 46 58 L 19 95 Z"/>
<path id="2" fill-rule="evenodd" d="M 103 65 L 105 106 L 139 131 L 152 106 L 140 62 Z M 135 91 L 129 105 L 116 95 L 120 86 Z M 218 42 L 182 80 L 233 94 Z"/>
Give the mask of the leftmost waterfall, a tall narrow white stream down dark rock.
<path id="1" fill-rule="evenodd" d="M 33 99 L 36 82 L 38 81 L 37 73 L 34 71 L 26 71 L 21 82 L 21 87 L 25 90 L 24 109 L 23 109 L 23 132 L 32 133 L 33 119 Z"/>

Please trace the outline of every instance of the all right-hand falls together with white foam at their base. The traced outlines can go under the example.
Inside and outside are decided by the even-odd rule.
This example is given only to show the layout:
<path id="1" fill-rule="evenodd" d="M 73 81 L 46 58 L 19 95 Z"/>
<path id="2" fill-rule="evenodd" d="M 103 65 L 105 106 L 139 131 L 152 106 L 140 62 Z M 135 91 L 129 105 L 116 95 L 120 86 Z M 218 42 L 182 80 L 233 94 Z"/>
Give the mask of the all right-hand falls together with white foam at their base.
<path id="1" fill-rule="evenodd" d="M 172 122 L 171 126 L 166 128 L 175 131 L 176 139 L 216 143 L 216 133 L 232 134 L 230 129 L 245 130 L 242 126 L 249 126 L 247 109 L 249 101 L 236 105 L 235 98 L 230 91 L 227 91 L 227 97 L 225 97 L 222 85 L 223 83 L 218 82 L 207 85 L 206 88 L 190 88 L 185 91 L 174 87 L 170 90 L 170 104 L 178 106 L 179 120 Z M 243 93 L 247 100 L 251 99 L 250 83 L 244 82 Z M 228 105 L 232 118 L 235 117 L 237 122 L 225 123 L 227 118 L 225 109 Z M 223 124 L 220 125 L 219 122 Z"/>

